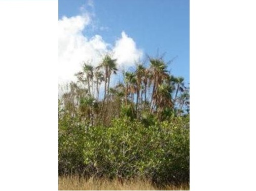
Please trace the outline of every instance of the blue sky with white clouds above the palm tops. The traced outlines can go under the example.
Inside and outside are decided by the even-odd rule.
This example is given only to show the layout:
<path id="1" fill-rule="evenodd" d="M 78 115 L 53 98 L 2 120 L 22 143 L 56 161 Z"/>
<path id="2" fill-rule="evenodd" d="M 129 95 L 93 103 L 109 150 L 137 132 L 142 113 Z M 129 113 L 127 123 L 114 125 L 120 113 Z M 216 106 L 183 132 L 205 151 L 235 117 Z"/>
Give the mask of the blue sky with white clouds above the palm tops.
<path id="1" fill-rule="evenodd" d="M 189 20 L 188 0 L 59 1 L 59 84 L 107 52 L 126 70 L 147 55 L 175 58 L 168 69 L 188 83 Z"/>

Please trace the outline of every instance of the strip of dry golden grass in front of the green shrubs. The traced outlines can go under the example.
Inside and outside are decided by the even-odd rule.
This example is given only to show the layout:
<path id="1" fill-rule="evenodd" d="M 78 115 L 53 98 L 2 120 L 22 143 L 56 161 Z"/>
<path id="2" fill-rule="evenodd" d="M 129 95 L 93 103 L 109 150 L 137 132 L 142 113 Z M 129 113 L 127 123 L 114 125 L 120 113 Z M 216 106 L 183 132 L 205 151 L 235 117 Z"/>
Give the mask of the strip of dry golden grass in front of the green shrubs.
<path id="1" fill-rule="evenodd" d="M 127 180 L 121 183 L 117 179 L 79 179 L 73 177 L 59 177 L 59 190 L 160 190 L 144 180 Z M 189 185 L 181 185 L 179 187 L 168 185 L 161 190 L 189 190 Z"/>

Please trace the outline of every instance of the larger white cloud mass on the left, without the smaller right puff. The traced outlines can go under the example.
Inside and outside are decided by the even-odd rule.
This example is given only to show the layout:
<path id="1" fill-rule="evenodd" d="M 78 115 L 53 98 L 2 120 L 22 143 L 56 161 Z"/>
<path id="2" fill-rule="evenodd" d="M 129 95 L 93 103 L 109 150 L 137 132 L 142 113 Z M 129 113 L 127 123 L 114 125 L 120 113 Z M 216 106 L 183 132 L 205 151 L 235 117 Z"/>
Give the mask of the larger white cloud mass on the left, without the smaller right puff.
<path id="1" fill-rule="evenodd" d="M 90 24 L 88 15 L 59 20 L 59 83 L 75 80 L 83 61 L 99 62 L 108 44 L 101 36 L 88 39 L 83 31 Z"/>

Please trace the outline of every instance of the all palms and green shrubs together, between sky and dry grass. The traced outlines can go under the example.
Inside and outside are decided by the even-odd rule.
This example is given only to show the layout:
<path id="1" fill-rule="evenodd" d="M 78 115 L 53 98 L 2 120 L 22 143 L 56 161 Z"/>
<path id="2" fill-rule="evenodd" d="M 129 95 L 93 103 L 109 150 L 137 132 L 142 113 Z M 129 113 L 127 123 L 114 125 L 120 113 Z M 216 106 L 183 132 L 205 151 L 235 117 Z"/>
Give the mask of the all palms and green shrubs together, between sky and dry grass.
<path id="1" fill-rule="evenodd" d="M 59 96 L 59 175 L 189 182 L 189 87 L 163 58 L 119 71 L 103 57 Z M 145 65 L 148 65 L 146 67 Z M 114 86 L 114 74 L 122 80 Z"/>

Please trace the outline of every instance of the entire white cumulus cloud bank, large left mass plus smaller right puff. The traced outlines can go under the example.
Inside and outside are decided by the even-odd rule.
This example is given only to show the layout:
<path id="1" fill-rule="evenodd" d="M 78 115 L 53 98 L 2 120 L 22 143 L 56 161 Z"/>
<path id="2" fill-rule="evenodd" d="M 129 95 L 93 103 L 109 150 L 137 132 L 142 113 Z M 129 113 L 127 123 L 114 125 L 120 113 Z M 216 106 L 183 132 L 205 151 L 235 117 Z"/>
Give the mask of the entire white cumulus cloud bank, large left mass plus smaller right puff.
<path id="1" fill-rule="evenodd" d="M 93 6 L 93 4 L 91 5 Z M 123 31 L 114 45 L 100 35 L 88 38 L 86 28 L 92 24 L 90 14 L 62 17 L 59 21 L 59 84 L 76 80 L 74 74 L 81 70 L 83 62 L 96 66 L 102 55 L 113 52 L 120 66 L 132 66 L 142 56 L 136 43 Z"/>

